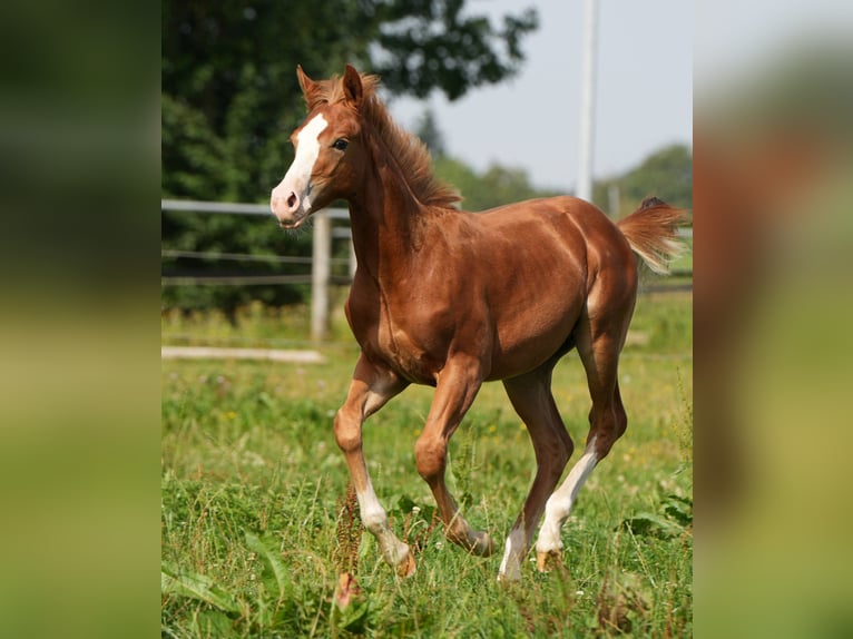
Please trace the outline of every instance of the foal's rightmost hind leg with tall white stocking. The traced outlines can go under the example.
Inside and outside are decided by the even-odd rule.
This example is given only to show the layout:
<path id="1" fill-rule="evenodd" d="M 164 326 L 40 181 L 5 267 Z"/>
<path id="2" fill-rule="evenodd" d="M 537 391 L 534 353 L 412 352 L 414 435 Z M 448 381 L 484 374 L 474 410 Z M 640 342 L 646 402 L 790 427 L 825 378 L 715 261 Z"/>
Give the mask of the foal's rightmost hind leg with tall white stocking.
<path id="1" fill-rule="evenodd" d="M 630 321 L 630 309 L 621 315 L 621 321 L 611 317 L 610 324 L 604 327 L 596 326 L 585 316 L 576 330 L 578 354 L 584 363 L 592 400 L 589 434 L 584 454 L 546 504 L 545 521 L 536 543 L 537 567 L 540 571 L 547 570 L 550 561 L 560 561 L 560 529 L 571 512 L 578 492 L 627 427 L 628 420 L 619 394 L 617 368 Z"/>

